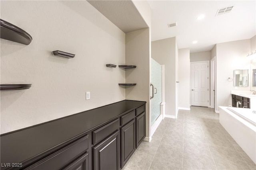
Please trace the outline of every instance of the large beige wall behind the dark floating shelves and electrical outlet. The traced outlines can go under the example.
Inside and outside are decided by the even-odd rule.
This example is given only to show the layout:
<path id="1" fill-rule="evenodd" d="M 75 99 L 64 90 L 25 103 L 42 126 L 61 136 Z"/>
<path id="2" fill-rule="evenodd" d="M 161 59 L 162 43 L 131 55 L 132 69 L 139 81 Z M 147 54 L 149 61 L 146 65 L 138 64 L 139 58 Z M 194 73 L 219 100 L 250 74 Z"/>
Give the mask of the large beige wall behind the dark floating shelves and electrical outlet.
<path id="1" fill-rule="evenodd" d="M 1 19 L 33 37 L 30 45 L 1 39 L 1 84 L 32 84 L 1 91 L 1 133 L 125 99 L 118 83 L 128 75 L 106 67 L 125 63 L 125 34 L 87 1 L 1 1 Z"/>

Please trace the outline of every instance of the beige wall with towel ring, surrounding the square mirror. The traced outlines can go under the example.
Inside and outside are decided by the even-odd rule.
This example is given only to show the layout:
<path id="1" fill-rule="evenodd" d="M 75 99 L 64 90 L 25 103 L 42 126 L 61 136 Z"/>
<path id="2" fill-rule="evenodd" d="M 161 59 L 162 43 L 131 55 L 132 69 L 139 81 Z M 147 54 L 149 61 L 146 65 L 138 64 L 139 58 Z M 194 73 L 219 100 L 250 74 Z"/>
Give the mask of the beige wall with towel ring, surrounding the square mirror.
<path id="1" fill-rule="evenodd" d="M 232 105 L 231 90 L 236 90 L 234 80 L 228 82 L 228 78 L 234 78 L 234 70 L 250 69 L 250 59 L 246 55 L 250 53 L 250 39 L 219 43 L 216 45 L 216 101 L 218 106 Z M 250 90 L 249 87 L 238 87 L 237 90 Z"/>

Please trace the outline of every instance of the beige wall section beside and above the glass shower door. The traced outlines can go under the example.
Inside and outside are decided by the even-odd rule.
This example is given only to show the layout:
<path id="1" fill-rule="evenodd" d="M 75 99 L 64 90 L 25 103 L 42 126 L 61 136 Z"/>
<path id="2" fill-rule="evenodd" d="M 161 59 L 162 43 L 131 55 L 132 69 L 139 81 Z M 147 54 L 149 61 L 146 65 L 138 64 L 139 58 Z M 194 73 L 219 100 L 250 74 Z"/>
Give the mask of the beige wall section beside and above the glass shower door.
<path id="1" fill-rule="evenodd" d="M 151 42 L 151 57 L 165 65 L 165 114 L 176 116 L 176 37 Z M 178 69 L 178 68 L 177 68 Z"/>

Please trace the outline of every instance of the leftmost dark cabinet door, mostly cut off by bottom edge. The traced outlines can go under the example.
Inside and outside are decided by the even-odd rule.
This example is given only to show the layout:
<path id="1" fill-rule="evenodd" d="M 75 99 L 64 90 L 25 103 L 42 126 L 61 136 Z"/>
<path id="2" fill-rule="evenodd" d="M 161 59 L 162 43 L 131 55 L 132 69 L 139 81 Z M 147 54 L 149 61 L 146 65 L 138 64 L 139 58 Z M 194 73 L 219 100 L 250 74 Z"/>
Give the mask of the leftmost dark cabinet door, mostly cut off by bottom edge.
<path id="1" fill-rule="evenodd" d="M 86 153 L 74 162 L 72 162 L 70 165 L 68 165 L 63 170 L 89 170 L 89 154 Z"/>

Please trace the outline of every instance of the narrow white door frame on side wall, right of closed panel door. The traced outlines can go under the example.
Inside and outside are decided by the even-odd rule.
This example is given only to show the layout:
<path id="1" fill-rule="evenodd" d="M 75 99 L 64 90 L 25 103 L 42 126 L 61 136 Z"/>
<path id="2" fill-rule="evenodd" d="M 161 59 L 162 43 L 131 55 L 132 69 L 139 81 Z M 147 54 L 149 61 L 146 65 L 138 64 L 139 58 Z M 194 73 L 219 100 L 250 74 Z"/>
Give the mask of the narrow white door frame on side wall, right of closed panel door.
<path id="1" fill-rule="evenodd" d="M 212 71 L 212 62 L 214 61 L 214 72 Z M 210 61 L 210 94 L 211 94 L 211 98 L 210 98 L 210 107 L 214 108 L 214 110 L 216 111 L 216 56 L 214 56 L 211 61 Z M 214 73 L 214 77 L 212 76 L 212 74 Z M 212 82 L 212 80 L 214 79 L 214 83 Z M 214 91 L 212 90 L 214 88 Z M 214 103 L 213 103 L 214 102 Z"/>

